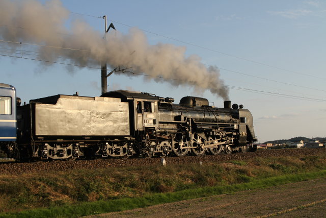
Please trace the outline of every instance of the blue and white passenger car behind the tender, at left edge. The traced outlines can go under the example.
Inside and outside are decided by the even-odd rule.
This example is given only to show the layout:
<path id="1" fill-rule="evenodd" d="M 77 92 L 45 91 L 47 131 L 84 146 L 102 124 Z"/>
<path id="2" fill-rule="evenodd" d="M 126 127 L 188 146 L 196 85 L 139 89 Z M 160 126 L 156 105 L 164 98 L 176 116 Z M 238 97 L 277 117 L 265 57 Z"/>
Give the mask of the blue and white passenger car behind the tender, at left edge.
<path id="1" fill-rule="evenodd" d="M 0 83 L 0 146 L 7 154 L 16 144 L 16 126 L 16 89 Z"/>

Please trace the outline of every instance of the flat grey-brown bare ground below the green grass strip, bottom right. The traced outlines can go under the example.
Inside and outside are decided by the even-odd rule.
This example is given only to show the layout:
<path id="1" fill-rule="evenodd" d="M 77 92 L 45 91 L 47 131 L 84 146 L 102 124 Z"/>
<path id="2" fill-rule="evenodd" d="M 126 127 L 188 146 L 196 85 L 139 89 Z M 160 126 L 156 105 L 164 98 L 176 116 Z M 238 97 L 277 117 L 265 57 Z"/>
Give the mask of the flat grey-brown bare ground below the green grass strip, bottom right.
<path id="1" fill-rule="evenodd" d="M 325 217 L 326 178 L 89 217 Z"/>

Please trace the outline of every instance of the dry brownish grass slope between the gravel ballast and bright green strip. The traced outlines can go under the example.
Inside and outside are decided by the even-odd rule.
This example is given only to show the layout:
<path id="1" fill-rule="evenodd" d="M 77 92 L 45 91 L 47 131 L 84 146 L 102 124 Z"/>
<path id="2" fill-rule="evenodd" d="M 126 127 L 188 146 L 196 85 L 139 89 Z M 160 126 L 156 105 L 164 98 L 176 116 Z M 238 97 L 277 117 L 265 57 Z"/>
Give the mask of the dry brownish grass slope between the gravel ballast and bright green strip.
<path id="1" fill-rule="evenodd" d="M 141 197 L 251 182 L 326 168 L 326 155 L 271 157 L 226 163 L 108 167 L 69 172 L 0 175 L 0 211 L 68 205 L 77 202 Z"/>

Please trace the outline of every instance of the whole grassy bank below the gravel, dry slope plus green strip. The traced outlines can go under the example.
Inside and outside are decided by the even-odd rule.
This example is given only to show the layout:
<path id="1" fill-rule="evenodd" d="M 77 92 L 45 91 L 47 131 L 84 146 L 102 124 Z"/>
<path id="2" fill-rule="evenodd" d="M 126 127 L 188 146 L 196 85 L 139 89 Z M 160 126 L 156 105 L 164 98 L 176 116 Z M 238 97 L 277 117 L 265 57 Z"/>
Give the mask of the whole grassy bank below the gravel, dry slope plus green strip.
<path id="1" fill-rule="evenodd" d="M 325 169 L 326 154 L 0 175 L 0 217 L 121 211 L 323 177 Z"/>

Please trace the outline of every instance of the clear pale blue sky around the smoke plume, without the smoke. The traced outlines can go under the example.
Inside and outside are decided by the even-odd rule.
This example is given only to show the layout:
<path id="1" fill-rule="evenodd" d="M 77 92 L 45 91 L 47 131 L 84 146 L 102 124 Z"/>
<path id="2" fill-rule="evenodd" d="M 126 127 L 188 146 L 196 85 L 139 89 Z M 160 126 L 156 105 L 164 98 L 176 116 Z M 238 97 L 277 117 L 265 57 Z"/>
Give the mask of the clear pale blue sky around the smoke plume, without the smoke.
<path id="1" fill-rule="evenodd" d="M 108 23 L 113 22 L 123 34 L 128 34 L 129 26 L 145 30 L 150 44 L 182 46 L 186 56 L 195 54 L 202 63 L 219 67 L 226 85 L 245 88 L 230 89 L 230 100 L 252 112 L 260 142 L 295 136 L 325 137 L 324 1 L 70 0 L 62 1 L 62 5 L 70 12 L 107 15 Z M 76 19 L 85 20 L 95 31 L 104 29 L 103 19 L 77 14 L 69 15 L 66 27 L 69 29 Z M 0 47 L 4 46 L 5 42 L 0 42 Z M 6 54 L 3 51 L 0 54 Z M 46 66 L 3 56 L 0 64 L 0 82 L 14 85 L 23 102 L 75 91 L 86 96 L 101 94 L 100 71 L 96 69 Z M 108 78 L 108 89 L 170 96 L 176 103 L 182 96 L 198 95 L 216 107 L 223 106 L 223 99 L 209 91 L 198 93 L 191 86 L 156 83 L 142 76 L 113 74 Z M 323 101 L 282 98 L 270 92 Z"/>

